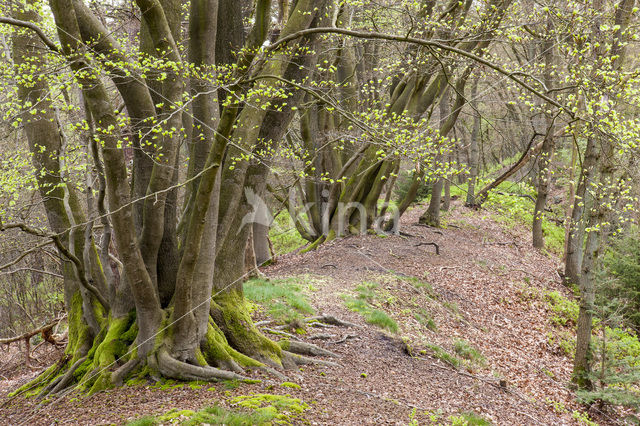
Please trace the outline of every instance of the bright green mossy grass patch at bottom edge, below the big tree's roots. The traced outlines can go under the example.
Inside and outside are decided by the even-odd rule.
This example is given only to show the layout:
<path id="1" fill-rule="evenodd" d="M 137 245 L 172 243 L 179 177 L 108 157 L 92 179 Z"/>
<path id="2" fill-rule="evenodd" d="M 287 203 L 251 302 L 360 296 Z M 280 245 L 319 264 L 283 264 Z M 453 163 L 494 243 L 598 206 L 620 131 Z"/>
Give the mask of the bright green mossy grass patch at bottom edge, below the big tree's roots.
<path id="1" fill-rule="evenodd" d="M 173 409 L 161 416 L 145 416 L 127 423 L 129 426 L 154 426 L 166 423 L 183 425 L 224 424 L 272 425 L 289 424 L 299 419 L 309 405 L 289 395 L 253 394 L 232 398 L 229 409 L 214 405 L 200 411 Z"/>

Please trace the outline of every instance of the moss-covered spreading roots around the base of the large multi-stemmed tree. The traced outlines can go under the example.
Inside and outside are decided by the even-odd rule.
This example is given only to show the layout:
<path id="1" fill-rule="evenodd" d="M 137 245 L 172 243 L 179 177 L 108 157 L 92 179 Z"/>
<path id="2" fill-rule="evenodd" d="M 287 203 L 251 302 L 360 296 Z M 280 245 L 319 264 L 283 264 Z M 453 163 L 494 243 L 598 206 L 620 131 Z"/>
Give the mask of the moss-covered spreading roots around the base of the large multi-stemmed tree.
<path id="1" fill-rule="evenodd" d="M 162 377 L 177 380 L 249 380 L 248 370 L 262 371 L 277 380 L 287 380 L 284 370 L 299 365 L 318 364 L 335 367 L 335 362 L 312 357 L 338 354 L 297 336 L 273 330 L 286 338 L 275 342 L 265 337 L 252 322 L 242 294 L 230 294 L 212 303 L 207 332 L 194 356 L 182 361 L 172 356 L 170 325 L 163 324 L 155 336 L 156 347 L 141 357 L 137 350 L 138 326 L 134 313 L 112 318 L 101 316 L 101 329 L 94 335 L 83 326 L 82 305 L 70 315 L 70 334 L 65 358 L 19 390 L 19 394 L 46 397 L 65 390 L 78 389 L 88 395 L 122 385 L 128 378 Z M 77 314 L 77 315 L 76 315 Z M 167 318 L 170 318 L 167 315 Z M 330 315 L 309 319 L 327 327 L 357 327 Z M 73 324 L 73 325 L 72 325 Z"/>

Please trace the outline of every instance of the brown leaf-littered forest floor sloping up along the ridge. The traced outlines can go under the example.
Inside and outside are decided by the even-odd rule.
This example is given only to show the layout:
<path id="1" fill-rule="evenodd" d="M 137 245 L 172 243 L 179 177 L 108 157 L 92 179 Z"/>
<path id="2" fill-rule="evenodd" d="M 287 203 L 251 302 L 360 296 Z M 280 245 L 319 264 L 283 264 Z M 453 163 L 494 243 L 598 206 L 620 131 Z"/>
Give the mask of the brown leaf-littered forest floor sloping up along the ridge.
<path id="1" fill-rule="evenodd" d="M 339 354 L 338 367 L 285 372 L 284 384 L 143 383 L 38 405 L 8 399 L 37 372 L 6 371 L 16 354 L 0 352 L 0 422 L 121 424 L 172 409 L 165 419 L 179 422 L 191 412 L 176 409 L 233 409 L 235 397 L 269 393 L 308 404 L 289 417 L 294 424 L 616 424 L 615 413 L 585 413 L 569 389 L 563 348 L 574 327 L 570 319 L 559 325 L 562 306 L 549 296 L 571 298 L 559 259 L 532 249 L 524 228 L 490 211 L 455 203 L 446 227 L 434 229 L 416 225 L 423 208 L 403 217 L 401 235 L 340 239 L 263 269 L 274 282 L 298 283 L 316 314 L 359 325 L 296 334 Z M 255 315 L 268 318 L 260 309 Z"/>

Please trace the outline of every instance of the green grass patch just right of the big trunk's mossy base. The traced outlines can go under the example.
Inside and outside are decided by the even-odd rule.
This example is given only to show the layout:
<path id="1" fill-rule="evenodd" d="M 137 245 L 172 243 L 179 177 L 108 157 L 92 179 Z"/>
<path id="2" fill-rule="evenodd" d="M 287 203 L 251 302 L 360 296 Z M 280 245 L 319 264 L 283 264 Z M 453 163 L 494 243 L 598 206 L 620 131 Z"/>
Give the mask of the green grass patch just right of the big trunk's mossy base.
<path id="1" fill-rule="evenodd" d="M 314 312 L 303 292 L 305 286 L 309 286 L 309 278 L 304 276 L 251 279 L 244 283 L 244 294 L 249 301 L 264 306 L 274 320 L 291 323 Z"/>

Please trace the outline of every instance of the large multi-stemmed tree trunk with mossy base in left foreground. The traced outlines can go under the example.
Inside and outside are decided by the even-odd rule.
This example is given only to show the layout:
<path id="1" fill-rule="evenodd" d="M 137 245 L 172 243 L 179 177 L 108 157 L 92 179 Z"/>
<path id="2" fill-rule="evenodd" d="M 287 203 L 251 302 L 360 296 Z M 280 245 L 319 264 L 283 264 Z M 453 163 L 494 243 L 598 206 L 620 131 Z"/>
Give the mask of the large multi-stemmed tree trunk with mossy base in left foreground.
<path id="1" fill-rule="evenodd" d="M 246 367 L 270 370 L 310 361 L 252 325 L 242 293 L 251 226 L 243 226 L 242 219 L 251 211 L 244 188 L 264 192 L 269 150 L 283 137 L 301 98 L 287 82 L 304 78 L 313 65 L 316 36 L 259 53 L 271 25 L 271 2 L 259 0 L 245 49 L 231 54 L 237 39 L 216 31 L 221 21 L 227 28 L 239 23 L 231 28 L 235 33 L 244 31 L 241 10 L 231 3 L 191 2 L 188 58 L 183 58 L 177 3 L 137 1 L 140 49 L 150 58 L 145 61 L 154 63 L 143 71 L 148 65 L 130 59 L 82 0 L 50 1 L 61 47 L 43 38 L 63 55 L 80 89 L 90 132 L 84 143 L 93 154 L 99 196 L 94 200 L 88 188 L 83 203 L 65 177 L 66 142 L 47 78 L 19 78 L 24 129 L 34 166 L 42 171 L 37 176 L 49 231 L 25 223 L 3 227 L 50 238 L 68 259 L 63 267 L 67 361 L 36 380 L 43 394 L 76 383 L 96 391 L 134 373 L 231 379 L 242 378 Z M 331 15 L 328 3 L 295 2 L 282 16 L 279 36 Z M 39 22 L 37 8 L 24 10 L 14 11 L 20 25 Z M 23 71 L 18 75 L 42 72 L 44 44 L 35 32 L 17 31 L 13 46 Z M 225 91 L 215 83 L 219 52 L 222 61 L 234 61 L 227 76 L 233 83 Z M 117 94 L 109 91 L 107 79 Z M 218 100 L 219 93 L 225 98 Z M 192 129 L 179 130 L 189 122 Z M 185 134 L 191 135 L 190 156 L 178 227 L 179 146 Z M 134 151 L 132 167 L 127 145 Z M 97 220 L 100 231 L 93 228 Z M 113 258 L 120 265 L 115 270 Z"/>

